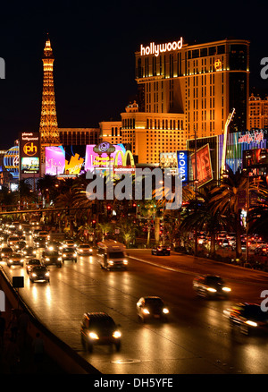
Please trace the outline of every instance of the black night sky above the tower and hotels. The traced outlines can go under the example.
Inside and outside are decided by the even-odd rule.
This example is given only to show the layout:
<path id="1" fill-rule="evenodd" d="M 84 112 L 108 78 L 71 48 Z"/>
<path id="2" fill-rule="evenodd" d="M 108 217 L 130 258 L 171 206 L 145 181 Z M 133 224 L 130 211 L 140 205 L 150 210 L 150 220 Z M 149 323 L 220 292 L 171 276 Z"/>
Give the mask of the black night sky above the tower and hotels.
<path id="1" fill-rule="evenodd" d="M 266 0 L 2 2 L 0 149 L 13 147 L 19 132 L 38 131 L 47 32 L 59 127 L 97 127 L 120 120 L 135 98 L 134 54 L 151 41 L 249 39 L 251 91 L 268 91 L 268 79 L 260 76 L 261 59 L 268 57 L 267 11 Z"/>

